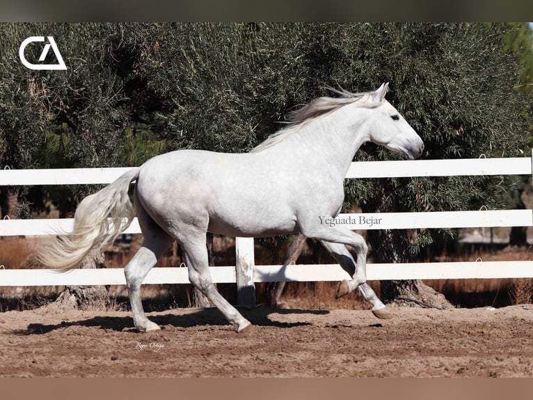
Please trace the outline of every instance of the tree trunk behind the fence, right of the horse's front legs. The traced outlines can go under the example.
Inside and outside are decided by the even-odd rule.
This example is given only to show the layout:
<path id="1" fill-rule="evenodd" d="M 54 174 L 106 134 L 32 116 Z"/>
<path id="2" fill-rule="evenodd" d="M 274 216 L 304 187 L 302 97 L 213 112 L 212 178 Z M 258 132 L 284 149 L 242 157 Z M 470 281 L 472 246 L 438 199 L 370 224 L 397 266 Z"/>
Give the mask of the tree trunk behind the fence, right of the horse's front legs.
<path id="1" fill-rule="evenodd" d="M 390 180 L 375 181 L 374 199 L 363 206 L 365 213 L 395 213 L 397 206 L 390 199 L 393 188 Z M 369 253 L 376 263 L 408 263 L 409 243 L 407 232 L 403 229 L 373 229 L 367 231 Z M 400 302 L 409 305 L 422 305 L 440 309 L 450 308 L 450 302 L 442 293 L 434 291 L 421 280 L 381 281 L 381 300 L 385 303 Z"/>

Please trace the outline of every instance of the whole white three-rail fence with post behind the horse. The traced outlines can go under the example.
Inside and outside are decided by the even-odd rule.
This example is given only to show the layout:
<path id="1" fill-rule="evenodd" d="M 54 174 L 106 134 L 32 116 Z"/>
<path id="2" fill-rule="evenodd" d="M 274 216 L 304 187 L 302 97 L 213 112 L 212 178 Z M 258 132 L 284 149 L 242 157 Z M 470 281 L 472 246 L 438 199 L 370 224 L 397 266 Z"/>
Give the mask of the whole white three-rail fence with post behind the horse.
<path id="1" fill-rule="evenodd" d="M 408 176 L 532 175 L 533 157 L 466 160 L 353 162 L 347 178 Z M 73 185 L 111 183 L 128 168 L 2 170 L 0 187 L 8 185 Z M 533 226 L 533 210 L 444 211 L 427 213 L 342 214 L 335 222 L 350 229 L 420 229 Z M 72 220 L 0 220 L 0 236 L 54 235 L 70 231 Z M 126 231 L 140 233 L 136 220 Z M 212 267 L 214 282 L 237 282 L 239 290 L 253 282 L 326 282 L 347 278 L 336 264 L 255 266 L 253 239 L 237 238 L 237 266 Z M 2 261 L 0 260 L 0 264 Z M 368 264 L 369 280 L 468 279 L 533 277 L 533 261 Z M 145 284 L 189 283 L 186 268 L 153 268 Z M 122 269 L 54 270 L 0 269 L 0 286 L 125 284 Z"/>

